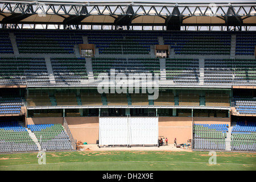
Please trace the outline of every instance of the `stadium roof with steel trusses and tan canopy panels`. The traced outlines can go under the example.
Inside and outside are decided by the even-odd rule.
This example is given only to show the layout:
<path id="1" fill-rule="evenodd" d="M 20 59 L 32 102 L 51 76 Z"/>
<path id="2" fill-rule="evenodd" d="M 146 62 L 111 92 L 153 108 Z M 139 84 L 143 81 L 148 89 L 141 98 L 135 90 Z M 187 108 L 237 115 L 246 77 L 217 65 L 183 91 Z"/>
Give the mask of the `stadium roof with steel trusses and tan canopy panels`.
<path id="1" fill-rule="evenodd" d="M 1 1 L 0 23 L 166 26 L 256 26 L 256 2 Z M 129 28 L 127 28 L 129 29 Z"/>

